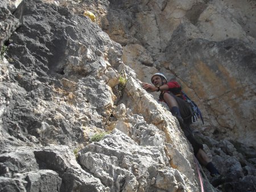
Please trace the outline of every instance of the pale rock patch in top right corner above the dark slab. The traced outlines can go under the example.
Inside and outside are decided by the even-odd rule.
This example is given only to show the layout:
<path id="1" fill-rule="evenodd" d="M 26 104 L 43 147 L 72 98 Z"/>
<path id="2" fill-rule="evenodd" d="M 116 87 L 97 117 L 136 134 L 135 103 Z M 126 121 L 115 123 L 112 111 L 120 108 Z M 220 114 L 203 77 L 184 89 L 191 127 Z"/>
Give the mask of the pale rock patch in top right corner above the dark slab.
<path id="1" fill-rule="evenodd" d="M 232 38 L 253 41 L 256 27 L 253 22 L 256 19 L 254 6 L 253 1 L 212 1 L 199 16 L 196 25 L 209 40 Z"/>

